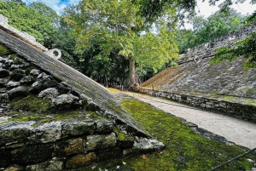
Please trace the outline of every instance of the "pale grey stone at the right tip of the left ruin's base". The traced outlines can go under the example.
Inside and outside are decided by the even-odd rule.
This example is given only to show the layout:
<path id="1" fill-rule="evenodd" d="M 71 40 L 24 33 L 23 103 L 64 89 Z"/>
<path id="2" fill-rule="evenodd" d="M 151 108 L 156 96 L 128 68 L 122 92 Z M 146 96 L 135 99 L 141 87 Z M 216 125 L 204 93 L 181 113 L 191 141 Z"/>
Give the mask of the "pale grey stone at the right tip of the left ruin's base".
<path id="1" fill-rule="evenodd" d="M 133 149 L 141 150 L 141 151 L 153 151 L 153 150 L 161 150 L 165 148 L 165 145 L 158 141 L 158 140 L 152 140 L 152 139 L 140 139 L 135 141 L 133 145 Z"/>

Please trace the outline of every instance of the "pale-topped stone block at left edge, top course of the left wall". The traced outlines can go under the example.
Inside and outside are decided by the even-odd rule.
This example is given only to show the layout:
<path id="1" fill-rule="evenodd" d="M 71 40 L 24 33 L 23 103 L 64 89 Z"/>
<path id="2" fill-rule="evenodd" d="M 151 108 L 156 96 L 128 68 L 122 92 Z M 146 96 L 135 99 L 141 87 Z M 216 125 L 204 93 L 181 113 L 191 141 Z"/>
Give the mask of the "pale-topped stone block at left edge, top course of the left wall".
<path id="1" fill-rule="evenodd" d="M 0 145 L 25 142 L 34 122 L 0 124 Z"/>

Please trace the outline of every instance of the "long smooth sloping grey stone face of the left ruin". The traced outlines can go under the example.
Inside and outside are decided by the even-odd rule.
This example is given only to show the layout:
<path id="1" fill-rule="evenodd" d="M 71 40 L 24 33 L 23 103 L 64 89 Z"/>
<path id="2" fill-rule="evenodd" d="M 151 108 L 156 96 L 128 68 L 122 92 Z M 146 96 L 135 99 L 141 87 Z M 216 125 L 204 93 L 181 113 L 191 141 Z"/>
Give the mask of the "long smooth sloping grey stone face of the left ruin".
<path id="1" fill-rule="evenodd" d="M 108 117 L 119 119 L 122 123 L 126 123 L 129 127 L 134 128 L 135 132 L 133 134 L 146 135 L 144 128 L 135 122 L 134 118 L 116 102 L 108 89 L 94 82 L 89 77 L 85 77 L 79 71 L 75 71 L 70 66 L 65 65 L 60 60 L 55 60 L 49 55 L 40 52 L 37 48 L 32 48 L 20 39 L 10 36 L 3 30 L 0 31 L 0 42 L 24 57 L 25 60 L 32 61 L 33 64 L 36 64 L 39 68 L 43 68 L 45 72 L 50 73 L 52 77 L 73 88 L 74 92 L 84 94 L 101 111 L 108 111 L 108 114 L 111 115 Z M 52 67 L 53 65 L 55 67 Z"/>

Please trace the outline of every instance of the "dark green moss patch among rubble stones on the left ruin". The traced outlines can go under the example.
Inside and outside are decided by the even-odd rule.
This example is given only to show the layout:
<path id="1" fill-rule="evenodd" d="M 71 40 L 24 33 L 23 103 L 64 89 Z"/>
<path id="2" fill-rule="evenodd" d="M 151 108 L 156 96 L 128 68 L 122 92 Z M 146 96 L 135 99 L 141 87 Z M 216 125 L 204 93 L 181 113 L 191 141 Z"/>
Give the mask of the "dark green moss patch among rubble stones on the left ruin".
<path id="1" fill-rule="evenodd" d="M 33 95 L 13 100 L 10 103 L 10 107 L 14 110 L 32 111 L 36 113 L 48 113 L 51 110 L 49 100 L 38 99 Z"/>

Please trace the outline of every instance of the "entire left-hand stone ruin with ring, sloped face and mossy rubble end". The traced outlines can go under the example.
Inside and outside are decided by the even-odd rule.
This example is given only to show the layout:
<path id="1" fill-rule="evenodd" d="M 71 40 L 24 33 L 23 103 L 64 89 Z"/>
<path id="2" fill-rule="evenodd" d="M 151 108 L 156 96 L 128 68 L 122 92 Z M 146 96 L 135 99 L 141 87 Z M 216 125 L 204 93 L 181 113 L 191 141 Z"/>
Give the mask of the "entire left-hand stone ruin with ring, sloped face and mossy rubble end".
<path id="1" fill-rule="evenodd" d="M 164 148 L 61 52 L 0 18 L 0 170 L 61 171 Z M 38 111 L 23 109 L 33 103 Z M 47 104 L 52 112 L 40 113 Z"/>

